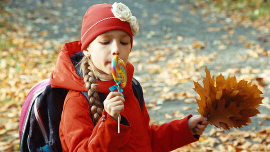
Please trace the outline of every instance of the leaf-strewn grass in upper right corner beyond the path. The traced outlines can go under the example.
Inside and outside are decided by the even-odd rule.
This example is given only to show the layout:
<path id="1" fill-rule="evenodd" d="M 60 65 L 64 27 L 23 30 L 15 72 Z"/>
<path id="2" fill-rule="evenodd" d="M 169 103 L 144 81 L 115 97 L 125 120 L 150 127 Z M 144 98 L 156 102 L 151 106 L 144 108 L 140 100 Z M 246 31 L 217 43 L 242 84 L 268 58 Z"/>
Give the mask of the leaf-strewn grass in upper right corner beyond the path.
<path id="1" fill-rule="evenodd" d="M 219 22 L 255 27 L 266 33 L 270 30 L 269 0 L 196 0 L 194 5 L 202 8 L 201 12 L 207 15 L 209 20 L 218 17 L 212 16 L 212 12 L 219 12 L 225 16 L 223 19 L 219 18 Z M 219 29 L 210 27 L 208 31 L 219 31 Z"/>

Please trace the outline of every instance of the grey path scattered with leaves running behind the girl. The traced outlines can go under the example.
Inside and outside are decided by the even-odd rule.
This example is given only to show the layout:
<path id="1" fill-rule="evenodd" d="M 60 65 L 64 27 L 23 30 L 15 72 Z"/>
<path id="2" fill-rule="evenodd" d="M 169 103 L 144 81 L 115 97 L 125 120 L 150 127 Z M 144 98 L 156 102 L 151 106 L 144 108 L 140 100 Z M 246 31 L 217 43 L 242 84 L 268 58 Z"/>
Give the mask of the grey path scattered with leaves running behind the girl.
<path id="1" fill-rule="evenodd" d="M 22 18 L 33 39 L 44 37 L 59 43 L 79 39 L 81 19 L 88 6 L 97 1 L 114 2 L 13 1 L 10 8 L 15 8 L 17 17 Z M 144 88 L 146 103 L 153 107 L 149 114 L 154 120 L 169 121 L 165 113 L 173 115 L 172 112 L 177 110 L 184 115 L 198 114 L 192 80 L 201 83 L 200 75 L 204 75 L 205 66 L 212 75 L 222 72 L 225 76 L 236 75 L 238 80 L 263 77 L 265 86 L 260 87 L 263 96 L 270 95 L 269 55 L 263 55 L 269 53 L 270 44 L 269 39 L 266 42 L 259 40 L 259 37 L 267 37 L 269 32 L 235 26 L 230 18 L 221 14 L 203 14 L 202 9 L 195 9 L 188 0 L 121 1 L 139 20 L 140 31 L 134 38 L 130 62 L 136 67 L 135 77 Z M 46 31 L 46 34 L 41 36 L 40 31 Z M 173 70 L 181 74 L 180 81 L 171 82 L 175 77 L 166 76 Z M 183 91 L 190 94 L 185 94 L 182 100 L 175 98 L 175 94 Z M 259 107 L 261 113 L 270 114 L 267 101 Z M 252 117 L 252 122 L 242 129 L 258 130 L 270 125 L 269 120 L 259 117 Z M 207 131 L 210 128 L 212 126 Z"/>

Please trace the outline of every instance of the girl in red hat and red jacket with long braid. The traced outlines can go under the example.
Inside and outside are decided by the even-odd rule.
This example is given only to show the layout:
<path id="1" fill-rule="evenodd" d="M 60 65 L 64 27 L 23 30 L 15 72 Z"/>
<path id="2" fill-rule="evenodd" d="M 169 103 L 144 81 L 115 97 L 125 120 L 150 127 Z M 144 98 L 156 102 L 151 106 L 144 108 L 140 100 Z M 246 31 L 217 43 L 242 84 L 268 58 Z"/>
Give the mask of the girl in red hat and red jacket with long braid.
<path id="1" fill-rule="evenodd" d="M 191 114 L 149 126 L 144 101 L 141 109 L 131 86 L 134 67 L 128 62 L 128 54 L 137 32 L 136 17 L 127 6 L 116 2 L 96 4 L 84 15 L 81 40 L 62 47 L 50 83 L 52 87 L 69 89 L 59 126 L 63 151 L 170 151 L 197 141 L 204 131 L 206 118 Z M 115 84 L 110 69 L 113 55 L 126 65 L 124 97 L 108 89 Z M 77 68 L 81 72 L 76 72 Z M 88 93 L 89 102 L 80 91 Z"/>

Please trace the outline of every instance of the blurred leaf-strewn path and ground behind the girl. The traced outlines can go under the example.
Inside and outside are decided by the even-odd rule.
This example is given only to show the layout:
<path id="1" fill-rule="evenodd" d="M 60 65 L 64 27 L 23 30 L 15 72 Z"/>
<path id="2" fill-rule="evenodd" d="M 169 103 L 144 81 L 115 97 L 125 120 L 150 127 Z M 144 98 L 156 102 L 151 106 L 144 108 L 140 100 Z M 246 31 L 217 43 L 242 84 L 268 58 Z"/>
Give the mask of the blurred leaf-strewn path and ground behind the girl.
<path id="1" fill-rule="evenodd" d="M 0 151 L 19 151 L 18 122 L 29 89 L 49 77 L 65 43 L 80 39 L 88 6 L 115 0 L 0 1 Z M 174 151 L 270 151 L 270 0 L 116 0 L 138 19 L 129 61 L 151 123 L 198 114 L 193 81 L 236 76 L 263 92 L 252 123 L 208 125 L 198 142 Z"/>

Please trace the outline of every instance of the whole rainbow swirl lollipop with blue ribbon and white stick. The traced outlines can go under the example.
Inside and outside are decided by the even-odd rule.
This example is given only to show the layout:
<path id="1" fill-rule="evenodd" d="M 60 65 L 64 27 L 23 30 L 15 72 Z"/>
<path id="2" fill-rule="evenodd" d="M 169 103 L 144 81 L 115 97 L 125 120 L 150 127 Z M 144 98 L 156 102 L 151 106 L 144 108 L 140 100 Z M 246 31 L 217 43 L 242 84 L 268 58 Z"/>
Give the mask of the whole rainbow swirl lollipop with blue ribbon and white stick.
<path id="1" fill-rule="evenodd" d="M 109 90 L 113 91 L 117 88 L 118 92 L 122 93 L 122 88 L 126 85 L 127 77 L 124 62 L 118 57 L 118 55 L 114 55 L 111 59 L 111 74 L 116 85 L 109 87 Z M 118 116 L 118 133 L 120 133 L 120 115 Z"/>

